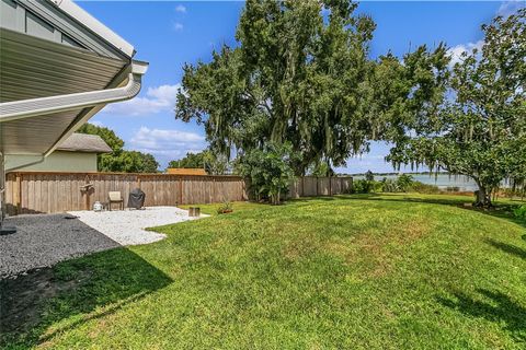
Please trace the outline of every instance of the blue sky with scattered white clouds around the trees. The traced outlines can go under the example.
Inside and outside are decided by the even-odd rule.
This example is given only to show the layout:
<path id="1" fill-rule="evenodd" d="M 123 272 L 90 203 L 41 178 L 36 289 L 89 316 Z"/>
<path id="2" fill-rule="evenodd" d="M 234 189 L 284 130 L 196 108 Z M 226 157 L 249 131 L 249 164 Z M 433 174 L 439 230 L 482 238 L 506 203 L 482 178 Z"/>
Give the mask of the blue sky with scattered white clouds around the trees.
<path id="1" fill-rule="evenodd" d="M 132 101 L 106 106 L 90 122 L 113 129 L 128 150 L 152 153 L 164 168 L 170 160 L 207 147 L 204 127 L 175 120 L 176 92 L 185 63 L 209 61 L 214 48 L 236 46 L 242 1 L 77 1 L 99 21 L 133 44 L 136 59 L 149 62 L 142 90 Z M 480 25 L 508 15 L 525 1 L 363 1 L 358 13 L 377 28 L 371 59 L 391 50 L 402 56 L 416 46 L 445 42 L 451 55 L 480 47 Z M 352 158 L 339 173 L 392 172 L 384 161 L 389 145 Z M 410 171 L 407 168 L 407 171 Z"/>

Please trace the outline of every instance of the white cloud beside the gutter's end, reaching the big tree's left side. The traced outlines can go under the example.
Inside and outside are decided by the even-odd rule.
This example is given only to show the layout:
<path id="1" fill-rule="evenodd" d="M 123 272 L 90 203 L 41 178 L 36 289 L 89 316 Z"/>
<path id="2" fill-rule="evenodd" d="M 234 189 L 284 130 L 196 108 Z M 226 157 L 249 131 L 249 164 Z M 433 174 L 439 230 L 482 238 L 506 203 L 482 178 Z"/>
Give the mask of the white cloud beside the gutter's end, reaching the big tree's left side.
<path id="1" fill-rule="evenodd" d="M 129 101 L 107 105 L 104 114 L 119 116 L 146 116 L 175 107 L 180 84 L 148 88 L 145 97 L 135 97 Z"/>

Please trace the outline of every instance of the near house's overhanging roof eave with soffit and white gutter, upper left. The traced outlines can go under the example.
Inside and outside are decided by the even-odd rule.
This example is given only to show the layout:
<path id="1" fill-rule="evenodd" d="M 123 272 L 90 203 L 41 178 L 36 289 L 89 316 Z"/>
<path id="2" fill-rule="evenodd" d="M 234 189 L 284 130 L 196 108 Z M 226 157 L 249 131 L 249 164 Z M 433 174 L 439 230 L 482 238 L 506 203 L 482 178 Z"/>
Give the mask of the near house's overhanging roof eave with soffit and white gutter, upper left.
<path id="1" fill-rule="evenodd" d="M 0 0 L 0 47 L 1 225 L 5 172 L 44 162 L 106 104 L 136 96 L 148 63 L 70 0 Z"/>

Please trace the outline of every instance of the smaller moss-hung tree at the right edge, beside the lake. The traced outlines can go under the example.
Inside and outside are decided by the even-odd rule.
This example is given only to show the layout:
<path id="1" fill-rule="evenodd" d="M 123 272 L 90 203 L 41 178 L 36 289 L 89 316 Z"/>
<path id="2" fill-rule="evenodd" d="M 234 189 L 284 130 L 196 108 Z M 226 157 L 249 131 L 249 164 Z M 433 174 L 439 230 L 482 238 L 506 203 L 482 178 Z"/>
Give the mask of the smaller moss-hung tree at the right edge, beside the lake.
<path id="1" fill-rule="evenodd" d="M 396 165 L 425 164 L 466 175 L 479 187 L 476 205 L 484 207 L 491 206 L 491 192 L 504 178 L 524 179 L 525 28 L 526 9 L 483 25 L 481 51 L 461 55 L 437 103 L 423 105 L 418 113 L 410 110 L 403 118 L 393 114 L 395 124 L 402 126 L 389 155 Z M 430 75 L 430 83 L 441 77 Z M 408 96 L 407 101 L 401 105 L 419 98 Z"/>

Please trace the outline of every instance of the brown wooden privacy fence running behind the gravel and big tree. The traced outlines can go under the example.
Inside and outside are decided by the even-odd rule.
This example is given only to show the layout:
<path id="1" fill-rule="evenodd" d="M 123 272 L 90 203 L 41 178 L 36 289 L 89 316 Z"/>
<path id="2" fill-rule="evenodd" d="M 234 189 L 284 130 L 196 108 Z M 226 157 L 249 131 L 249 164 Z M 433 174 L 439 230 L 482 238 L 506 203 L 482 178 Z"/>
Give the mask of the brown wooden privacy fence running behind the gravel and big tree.
<path id="1" fill-rule="evenodd" d="M 9 173 L 5 178 L 8 214 L 53 213 L 90 210 L 95 201 L 106 202 L 110 191 L 140 188 L 147 207 L 211 203 L 245 200 L 240 176 L 124 174 L 124 173 Z M 290 184 L 290 198 L 332 196 L 346 192 L 352 177 L 306 176 Z"/>

